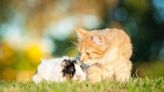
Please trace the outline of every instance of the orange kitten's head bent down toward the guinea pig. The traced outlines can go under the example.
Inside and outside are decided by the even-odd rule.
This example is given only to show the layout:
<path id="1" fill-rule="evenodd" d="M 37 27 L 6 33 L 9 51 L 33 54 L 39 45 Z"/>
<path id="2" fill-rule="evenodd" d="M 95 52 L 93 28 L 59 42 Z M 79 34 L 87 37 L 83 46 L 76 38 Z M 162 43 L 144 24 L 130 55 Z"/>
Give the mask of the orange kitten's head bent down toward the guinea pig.
<path id="1" fill-rule="evenodd" d="M 82 28 L 75 29 L 79 40 L 80 61 L 102 58 L 107 49 L 105 32 L 86 31 Z"/>

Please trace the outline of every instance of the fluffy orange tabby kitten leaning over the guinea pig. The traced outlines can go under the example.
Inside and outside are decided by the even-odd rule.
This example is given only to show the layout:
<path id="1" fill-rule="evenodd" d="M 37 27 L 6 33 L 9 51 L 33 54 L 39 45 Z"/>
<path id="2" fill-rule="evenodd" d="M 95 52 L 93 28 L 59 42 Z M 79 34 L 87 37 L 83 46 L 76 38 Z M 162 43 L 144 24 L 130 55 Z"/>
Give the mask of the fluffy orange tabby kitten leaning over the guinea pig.
<path id="1" fill-rule="evenodd" d="M 117 80 L 125 82 L 131 75 L 132 44 L 121 29 L 86 31 L 76 28 L 80 60 L 90 65 L 87 78 L 92 82 Z"/>

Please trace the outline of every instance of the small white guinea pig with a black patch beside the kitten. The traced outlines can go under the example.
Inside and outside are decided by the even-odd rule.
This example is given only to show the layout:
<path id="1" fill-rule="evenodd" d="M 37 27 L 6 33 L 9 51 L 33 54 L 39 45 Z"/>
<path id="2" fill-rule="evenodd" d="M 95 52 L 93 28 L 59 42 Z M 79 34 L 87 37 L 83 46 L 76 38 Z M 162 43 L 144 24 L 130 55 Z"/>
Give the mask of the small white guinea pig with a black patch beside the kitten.
<path id="1" fill-rule="evenodd" d="M 86 73 L 79 61 L 68 56 L 42 60 L 36 74 L 32 77 L 35 83 L 40 83 L 43 80 L 63 82 L 69 79 L 83 81 L 86 79 Z"/>

